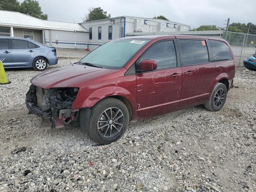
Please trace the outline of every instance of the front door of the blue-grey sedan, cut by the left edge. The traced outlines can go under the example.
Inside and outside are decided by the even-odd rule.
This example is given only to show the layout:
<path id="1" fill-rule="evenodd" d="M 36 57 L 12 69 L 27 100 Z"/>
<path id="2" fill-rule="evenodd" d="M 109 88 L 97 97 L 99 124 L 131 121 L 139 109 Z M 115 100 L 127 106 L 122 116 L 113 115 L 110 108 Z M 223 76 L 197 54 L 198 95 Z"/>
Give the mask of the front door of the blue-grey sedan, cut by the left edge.
<path id="1" fill-rule="evenodd" d="M 3 60 L 4 67 L 12 66 L 12 50 L 9 39 L 0 39 L 0 59 Z"/>

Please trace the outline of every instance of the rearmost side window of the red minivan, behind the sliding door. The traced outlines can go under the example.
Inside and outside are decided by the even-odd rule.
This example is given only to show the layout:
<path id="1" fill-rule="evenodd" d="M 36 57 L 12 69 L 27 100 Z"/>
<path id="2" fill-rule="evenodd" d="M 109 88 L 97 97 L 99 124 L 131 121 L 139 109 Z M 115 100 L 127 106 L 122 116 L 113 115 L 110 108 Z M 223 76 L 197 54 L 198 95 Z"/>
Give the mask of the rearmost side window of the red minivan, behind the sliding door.
<path id="1" fill-rule="evenodd" d="M 217 41 L 217 40 L 210 40 L 210 44 L 211 44 L 212 53 L 213 53 L 212 61 L 232 59 L 232 54 L 226 43 L 222 41 Z"/>

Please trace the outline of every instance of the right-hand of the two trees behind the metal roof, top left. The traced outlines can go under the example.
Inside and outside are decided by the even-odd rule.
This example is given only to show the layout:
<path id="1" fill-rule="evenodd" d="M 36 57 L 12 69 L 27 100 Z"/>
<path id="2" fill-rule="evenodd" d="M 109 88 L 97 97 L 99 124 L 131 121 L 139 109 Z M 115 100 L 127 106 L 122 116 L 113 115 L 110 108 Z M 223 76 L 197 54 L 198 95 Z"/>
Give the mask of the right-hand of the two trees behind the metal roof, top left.
<path id="1" fill-rule="evenodd" d="M 41 7 L 39 6 L 38 1 L 36 0 L 24 0 L 22 4 L 20 4 L 20 12 L 24 14 L 29 14 L 30 16 L 39 18 L 39 19 L 48 19 L 47 14 L 43 14 Z"/>

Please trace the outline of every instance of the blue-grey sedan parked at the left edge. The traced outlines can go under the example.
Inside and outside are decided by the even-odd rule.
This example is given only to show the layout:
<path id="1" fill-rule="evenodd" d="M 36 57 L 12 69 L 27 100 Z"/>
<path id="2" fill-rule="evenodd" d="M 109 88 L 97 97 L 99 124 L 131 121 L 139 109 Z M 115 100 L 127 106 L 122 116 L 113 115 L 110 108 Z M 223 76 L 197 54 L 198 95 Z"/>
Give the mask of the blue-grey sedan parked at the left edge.
<path id="1" fill-rule="evenodd" d="M 5 58 L 4 68 L 34 67 L 41 71 L 58 63 L 55 48 L 28 38 L 0 37 L 0 58 Z"/>

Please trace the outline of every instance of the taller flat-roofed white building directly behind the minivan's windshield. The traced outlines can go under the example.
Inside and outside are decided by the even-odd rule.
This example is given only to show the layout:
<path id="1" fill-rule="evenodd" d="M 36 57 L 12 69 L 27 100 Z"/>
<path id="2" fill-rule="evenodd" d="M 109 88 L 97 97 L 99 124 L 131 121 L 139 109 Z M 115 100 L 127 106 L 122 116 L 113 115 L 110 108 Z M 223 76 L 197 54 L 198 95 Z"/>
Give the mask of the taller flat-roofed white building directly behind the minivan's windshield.
<path id="1" fill-rule="evenodd" d="M 180 32 L 189 31 L 190 26 L 177 22 L 141 18 L 132 16 L 120 16 L 110 19 L 89 21 L 80 23 L 88 35 L 88 48 L 93 50 L 109 40 L 125 37 L 127 33 L 142 32 L 154 34 L 156 32 Z"/>

